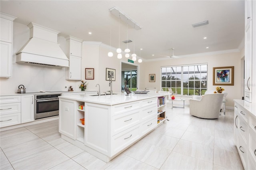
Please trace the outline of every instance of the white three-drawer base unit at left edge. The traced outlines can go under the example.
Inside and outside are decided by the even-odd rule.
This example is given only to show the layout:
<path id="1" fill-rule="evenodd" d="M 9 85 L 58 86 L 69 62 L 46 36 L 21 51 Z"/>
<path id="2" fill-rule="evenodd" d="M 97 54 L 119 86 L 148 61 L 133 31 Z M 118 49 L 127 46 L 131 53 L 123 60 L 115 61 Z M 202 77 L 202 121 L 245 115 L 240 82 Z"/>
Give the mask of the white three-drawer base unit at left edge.
<path id="1" fill-rule="evenodd" d="M 20 124 L 20 95 L 0 96 L 0 127 Z"/>

